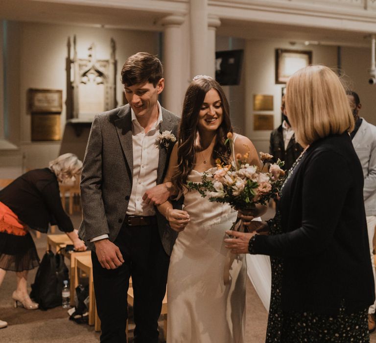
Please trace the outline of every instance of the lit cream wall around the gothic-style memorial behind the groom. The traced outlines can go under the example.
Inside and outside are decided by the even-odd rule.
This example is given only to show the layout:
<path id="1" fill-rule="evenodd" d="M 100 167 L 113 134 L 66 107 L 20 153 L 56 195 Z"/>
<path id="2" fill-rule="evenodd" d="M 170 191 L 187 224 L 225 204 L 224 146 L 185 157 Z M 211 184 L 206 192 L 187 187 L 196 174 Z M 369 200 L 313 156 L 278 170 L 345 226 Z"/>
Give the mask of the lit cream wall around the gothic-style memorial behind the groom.
<path id="1" fill-rule="evenodd" d="M 61 132 L 66 122 L 66 72 L 67 40 L 77 39 L 79 58 L 87 57 L 87 49 L 96 45 L 99 59 L 110 57 L 110 39 L 116 42 L 117 100 L 122 104 L 120 71 L 126 58 L 138 51 L 158 54 L 158 33 L 150 31 L 106 29 L 99 27 L 49 25 L 39 23 L 9 22 L 8 102 L 11 108 L 10 126 L 12 143 L 21 147 L 24 164 L 28 169 L 44 167 L 58 156 L 61 142 L 31 142 L 31 116 L 27 113 L 26 94 L 29 88 L 61 89 L 63 111 Z M 71 53 L 72 56 L 72 53 Z M 17 130 L 14 130 L 14 128 Z M 79 140 L 78 140 L 79 141 Z M 1 153 L 1 152 L 0 152 Z M 0 166 L 1 169 L 1 166 Z M 1 171 L 0 171 L 1 172 Z"/>

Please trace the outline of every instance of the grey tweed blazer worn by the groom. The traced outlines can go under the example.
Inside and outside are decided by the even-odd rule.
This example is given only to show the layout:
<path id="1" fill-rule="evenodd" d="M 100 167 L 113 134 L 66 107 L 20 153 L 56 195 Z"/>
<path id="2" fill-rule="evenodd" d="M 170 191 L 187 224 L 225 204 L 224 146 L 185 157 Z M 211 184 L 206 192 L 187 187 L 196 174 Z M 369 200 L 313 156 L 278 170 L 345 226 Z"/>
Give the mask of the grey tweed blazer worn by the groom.
<path id="1" fill-rule="evenodd" d="M 179 118 L 162 108 L 160 131 L 177 136 Z M 173 144 L 159 150 L 157 184 L 163 182 Z M 83 221 L 79 236 L 90 240 L 104 234 L 111 242 L 118 236 L 132 191 L 133 147 L 131 108 L 125 105 L 94 118 L 81 176 Z M 165 252 L 170 255 L 177 233 L 158 212 L 158 230 Z"/>

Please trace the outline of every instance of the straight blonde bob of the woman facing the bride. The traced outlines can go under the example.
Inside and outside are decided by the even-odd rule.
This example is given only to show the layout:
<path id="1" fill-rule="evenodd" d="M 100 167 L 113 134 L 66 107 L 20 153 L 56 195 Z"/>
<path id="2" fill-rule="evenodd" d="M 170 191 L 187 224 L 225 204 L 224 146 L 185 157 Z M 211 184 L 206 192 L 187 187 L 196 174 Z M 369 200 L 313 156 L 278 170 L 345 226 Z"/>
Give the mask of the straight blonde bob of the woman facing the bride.
<path id="1" fill-rule="evenodd" d="M 354 119 L 339 77 L 328 67 L 300 69 L 287 81 L 286 112 L 304 147 L 331 134 L 351 132 Z"/>

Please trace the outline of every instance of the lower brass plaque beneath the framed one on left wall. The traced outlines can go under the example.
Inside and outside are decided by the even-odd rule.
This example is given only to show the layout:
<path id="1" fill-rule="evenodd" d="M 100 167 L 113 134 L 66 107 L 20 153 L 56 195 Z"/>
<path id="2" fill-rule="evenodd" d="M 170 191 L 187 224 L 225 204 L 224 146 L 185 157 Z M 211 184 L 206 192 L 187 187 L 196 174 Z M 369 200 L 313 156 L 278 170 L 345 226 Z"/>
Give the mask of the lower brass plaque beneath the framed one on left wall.
<path id="1" fill-rule="evenodd" d="M 32 114 L 31 115 L 32 141 L 60 141 L 61 124 L 60 114 Z"/>

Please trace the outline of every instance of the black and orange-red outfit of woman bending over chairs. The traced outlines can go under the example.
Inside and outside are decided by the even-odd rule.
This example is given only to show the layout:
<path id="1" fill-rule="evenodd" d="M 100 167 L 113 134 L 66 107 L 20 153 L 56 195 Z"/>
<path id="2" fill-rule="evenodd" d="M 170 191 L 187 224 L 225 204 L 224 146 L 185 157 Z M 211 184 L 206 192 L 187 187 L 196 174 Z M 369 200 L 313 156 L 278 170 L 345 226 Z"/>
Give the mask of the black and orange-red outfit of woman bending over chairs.
<path id="1" fill-rule="evenodd" d="M 39 257 L 29 228 L 47 232 L 49 223 L 57 224 L 64 232 L 73 231 L 71 219 L 61 205 L 54 172 L 35 169 L 2 189 L 0 268 L 23 271 L 37 267 Z"/>

